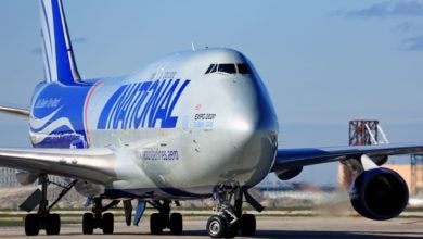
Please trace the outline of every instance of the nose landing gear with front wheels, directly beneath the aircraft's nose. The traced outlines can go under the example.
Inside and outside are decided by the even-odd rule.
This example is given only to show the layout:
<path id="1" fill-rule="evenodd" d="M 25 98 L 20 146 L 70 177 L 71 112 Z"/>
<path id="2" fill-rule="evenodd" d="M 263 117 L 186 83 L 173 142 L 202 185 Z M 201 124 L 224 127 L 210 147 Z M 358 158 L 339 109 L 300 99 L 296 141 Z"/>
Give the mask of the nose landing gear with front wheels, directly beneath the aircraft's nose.
<path id="1" fill-rule="evenodd" d="M 252 237 L 256 232 L 256 217 L 253 214 L 242 213 L 243 193 L 249 204 L 258 211 L 262 210 L 247 191 L 241 191 L 239 186 L 219 186 L 214 192 L 217 215 L 207 221 L 207 232 L 211 238 L 233 238 L 239 232 Z M 233 200 L 233 205 L 231 201 Z"/>

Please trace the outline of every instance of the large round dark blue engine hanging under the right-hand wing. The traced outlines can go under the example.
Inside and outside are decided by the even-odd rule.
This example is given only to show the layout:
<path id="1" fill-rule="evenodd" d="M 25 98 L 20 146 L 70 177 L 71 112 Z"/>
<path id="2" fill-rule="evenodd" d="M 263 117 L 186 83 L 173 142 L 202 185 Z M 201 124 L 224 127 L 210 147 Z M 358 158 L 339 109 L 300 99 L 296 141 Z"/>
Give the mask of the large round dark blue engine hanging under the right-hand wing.
<path id="1" fill-rule="evenodd" d="M 379 167 L 361 173 L 352 183 L 349 197 L 362 216 L 383 221 L 398 216 L 406 209 L 409 192 L 398 173 Z"/>

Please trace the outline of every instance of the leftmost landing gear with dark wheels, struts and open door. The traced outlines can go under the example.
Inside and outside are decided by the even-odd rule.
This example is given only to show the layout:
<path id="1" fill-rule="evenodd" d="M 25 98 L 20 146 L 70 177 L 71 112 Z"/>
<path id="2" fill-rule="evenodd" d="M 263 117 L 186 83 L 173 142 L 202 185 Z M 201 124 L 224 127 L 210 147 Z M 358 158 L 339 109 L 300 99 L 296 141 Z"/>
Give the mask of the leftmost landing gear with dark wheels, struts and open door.
<path id="1" fill-rule="evenodd" d="M 73 180 L 67 186 L 57 185 L 63 188 L 57 199 L 49 205 L 47 200 L 48 184 L 47 174 L 39 176 L 41 191 L 37 189 L 22 205 L 21 209 L 28 212 L 33 211 L 38 203 L 38 213 L 30 213 L 25 216 L 25 234 L 27 236 L 37 236 L 40 230 L 46 230 L 47 235 L 59 235 L 61 231 L 61 217 L 59 214 L 50 213 L 50 210 L 75 186 L 77 180 Z"/>

